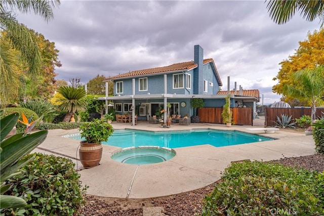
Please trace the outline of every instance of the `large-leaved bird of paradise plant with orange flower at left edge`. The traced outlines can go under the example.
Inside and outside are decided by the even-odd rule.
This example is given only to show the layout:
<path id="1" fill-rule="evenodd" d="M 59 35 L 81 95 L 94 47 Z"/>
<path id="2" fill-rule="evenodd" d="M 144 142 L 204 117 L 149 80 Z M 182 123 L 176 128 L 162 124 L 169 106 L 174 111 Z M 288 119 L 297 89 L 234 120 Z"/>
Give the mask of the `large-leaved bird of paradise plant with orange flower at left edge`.
<path id="1" fill-rule="evenodd" d="M 29 120 L 23 116 L 23 123 L 27 128 L 24 133 L 16 134 L 8 139 L 4 139 L 17 123 L 19 113 L 12 113 L 0 120 L 0 205 L 1 208 L 17 208 L 26 205 L 26 201 L 20 197 L 4 195 L 12 184 L 7 184 L 6 181 L 15 175 L 22 166 L 32 160 L 32 157 L 23 158 L 31 152 L 39 144 L 43 143 L 47 137 L 48 131 L 38 131 L 33 134 L 28 134 L 32 127 L 37 123 L 29 123 Z M 22 159 L 23 158 L 23 159 Z"/>

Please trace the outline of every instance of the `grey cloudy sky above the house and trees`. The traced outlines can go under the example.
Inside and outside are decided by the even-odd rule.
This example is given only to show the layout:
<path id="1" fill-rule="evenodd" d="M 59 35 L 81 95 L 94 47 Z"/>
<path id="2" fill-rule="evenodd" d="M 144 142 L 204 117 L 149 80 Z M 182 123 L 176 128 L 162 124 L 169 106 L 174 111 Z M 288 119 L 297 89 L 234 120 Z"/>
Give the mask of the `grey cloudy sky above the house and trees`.
<path id="1" fill-rule="evenodd" d="M 57 79 L 87 83 L 105 77 L 193 60 L 193 47 L 213 58 L 227 90 L 259 89 L 264 104 L 279 101 L 272 80 L 298 42 L 318 30 L 319 20 L 297 14 L 271 21 L 264 1 L 64 1 L 48 23 L 33 14 L 19 22 L 55 42 L 62 67 Z M 262 97 L 262 95 L 260 95 Z M 261 100 L 262 101 L 262 100 Z"/>

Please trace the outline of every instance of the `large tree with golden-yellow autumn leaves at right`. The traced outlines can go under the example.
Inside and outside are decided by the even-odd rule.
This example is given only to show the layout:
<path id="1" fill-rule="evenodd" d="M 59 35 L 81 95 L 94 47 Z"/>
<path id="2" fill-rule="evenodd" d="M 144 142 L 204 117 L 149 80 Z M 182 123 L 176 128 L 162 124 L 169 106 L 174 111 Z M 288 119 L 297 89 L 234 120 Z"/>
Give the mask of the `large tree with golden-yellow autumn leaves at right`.
<path id="1" fill-rule="evenodd" d="M 292 101 L 287 95 L 286 85 L 293 83 L 293 74 L 306 68 L 313 69 L 317 65 L 324 65 L 324 28 L 314 31 L 313 34 L 308 32 L 308 38 L 299 42 L 299 48 L 289 59 L 279 63 L 281 68 L 273 80 L 278 80 L 278 84 L 272 87 L 272 91 L 282 94 L 285 102 Z M 310 105 L 310 104 L 308 104 Z"/>

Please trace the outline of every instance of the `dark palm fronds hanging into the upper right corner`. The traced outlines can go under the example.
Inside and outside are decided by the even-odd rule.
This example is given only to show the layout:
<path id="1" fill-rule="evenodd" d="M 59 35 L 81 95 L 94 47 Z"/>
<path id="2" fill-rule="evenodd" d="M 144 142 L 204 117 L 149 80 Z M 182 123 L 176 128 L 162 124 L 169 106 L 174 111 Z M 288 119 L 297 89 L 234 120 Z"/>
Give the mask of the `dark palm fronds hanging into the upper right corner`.
<path id="1" fill-rule="evenodd" d="M 288 22 L 298 11 L 303 19 L 313 21 L 317 17 L 324 23 L 324 1 L 267 1 L 267 9 L 271 19 L 277 24 Z"/>

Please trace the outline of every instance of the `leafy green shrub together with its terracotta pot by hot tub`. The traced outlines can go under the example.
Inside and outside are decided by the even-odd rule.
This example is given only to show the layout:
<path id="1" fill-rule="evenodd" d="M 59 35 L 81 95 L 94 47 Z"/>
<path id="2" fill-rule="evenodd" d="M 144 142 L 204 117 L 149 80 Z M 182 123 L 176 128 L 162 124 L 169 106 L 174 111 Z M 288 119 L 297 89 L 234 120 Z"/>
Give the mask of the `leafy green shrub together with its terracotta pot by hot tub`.
<path id="1" fill-rule="evenodd" d="M 97 166 L 102 157 L 101 143 L 107 141 L 113 133 L 113 127 L 105 118 L 93 119 L 79 126 L 81 137 L 86 141 L 80 142 L 79 157 L 85 168 Z"/>

